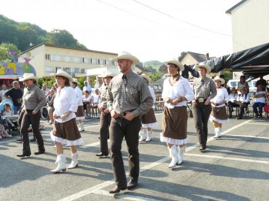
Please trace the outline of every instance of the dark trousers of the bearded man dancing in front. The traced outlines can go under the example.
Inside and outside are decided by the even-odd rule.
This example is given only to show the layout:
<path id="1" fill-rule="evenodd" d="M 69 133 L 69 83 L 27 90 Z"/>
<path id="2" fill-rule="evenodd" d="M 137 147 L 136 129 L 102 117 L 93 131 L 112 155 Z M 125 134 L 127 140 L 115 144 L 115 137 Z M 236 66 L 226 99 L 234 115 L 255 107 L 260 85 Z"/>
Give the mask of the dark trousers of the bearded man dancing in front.
<path id="1" fill-rule="evenodd" d="M 139 176 L 138 133 L 141 128 L 141 119 L 135 117 L 132 121 L 124 118 L 112 118 L 110 124 L 111 161 L 114 179 L 119 187 L 126 187 L 126 175 L 121 154 L 121 143 L 125 137 L 129 152 L 129 177 L 131 180 Z"/>

